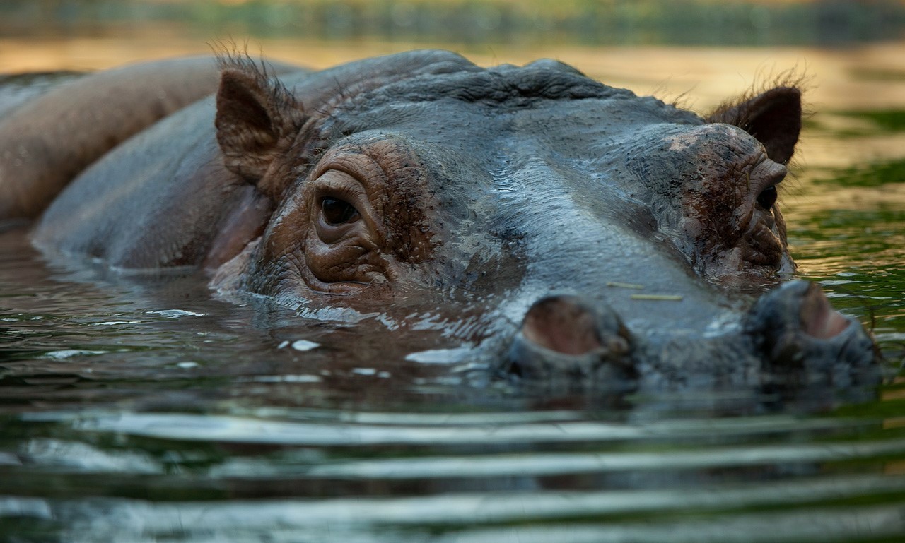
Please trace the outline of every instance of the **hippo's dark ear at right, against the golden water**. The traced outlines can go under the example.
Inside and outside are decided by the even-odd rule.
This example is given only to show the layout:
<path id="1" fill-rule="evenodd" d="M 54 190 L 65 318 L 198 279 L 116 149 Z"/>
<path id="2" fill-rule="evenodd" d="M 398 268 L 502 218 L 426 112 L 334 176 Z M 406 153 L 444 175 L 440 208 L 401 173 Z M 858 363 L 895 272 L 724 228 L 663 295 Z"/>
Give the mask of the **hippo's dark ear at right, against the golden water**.
<path id="1" fill-rule="evenodd" d="M 767 156 L 786 164 L 795 153 L 801 132 L 801 90 L 776 87 L 735 104 L 724 104 L 707 117 L 744 129 L 764 144 Z"/>

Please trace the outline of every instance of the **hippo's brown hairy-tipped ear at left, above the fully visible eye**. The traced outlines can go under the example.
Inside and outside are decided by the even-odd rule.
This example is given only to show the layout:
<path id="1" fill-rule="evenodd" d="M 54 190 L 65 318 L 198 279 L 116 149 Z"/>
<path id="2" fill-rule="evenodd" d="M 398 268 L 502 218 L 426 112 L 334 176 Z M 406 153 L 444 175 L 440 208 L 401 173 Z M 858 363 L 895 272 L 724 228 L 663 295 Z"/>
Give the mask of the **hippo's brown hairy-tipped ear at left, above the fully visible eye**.
<path id="1" fill-rule="evenodd" d="M 271 197 L 281 187 L 268 186 L 265 175 L 304 120 L 291 92 L 263 70 L 249 63 L 224 68 L 214 121 L 224 164 Z"/>

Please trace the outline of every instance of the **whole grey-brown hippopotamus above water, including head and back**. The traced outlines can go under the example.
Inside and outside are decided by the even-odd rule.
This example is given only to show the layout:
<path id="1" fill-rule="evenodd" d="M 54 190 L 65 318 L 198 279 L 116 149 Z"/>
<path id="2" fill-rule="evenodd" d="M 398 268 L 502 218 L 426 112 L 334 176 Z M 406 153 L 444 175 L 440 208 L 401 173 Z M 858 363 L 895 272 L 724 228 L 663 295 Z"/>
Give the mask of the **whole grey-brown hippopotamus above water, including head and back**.
<path id="1" fill-rule="evenodd" d="M 871 335 L 795 279 L 777 197 L 801 104 L 780 84 L 701 116 L 448 51 L 165 61 L 7 112 L 0 218 L 49 256 L 201 270 L 395 345 L 440 331 L 518 382 L 871 384 Z"/>

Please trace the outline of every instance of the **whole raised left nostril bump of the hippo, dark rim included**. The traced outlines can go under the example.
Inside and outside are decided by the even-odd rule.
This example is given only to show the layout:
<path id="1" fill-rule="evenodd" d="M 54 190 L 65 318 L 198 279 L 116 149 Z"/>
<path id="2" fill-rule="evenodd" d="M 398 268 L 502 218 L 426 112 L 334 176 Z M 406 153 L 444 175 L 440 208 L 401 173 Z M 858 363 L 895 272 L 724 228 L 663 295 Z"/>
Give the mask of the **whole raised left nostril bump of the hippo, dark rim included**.
<path id="1" fill-rule="evenodd" d="M 632 349 L 631 335 L 608 306 L 549 296 L 525 314 L 505 370 L 553 387 L 631 389 L 636 378 Z"/>

